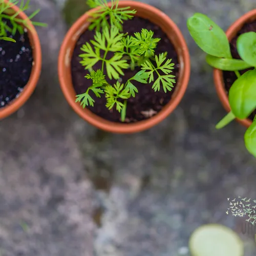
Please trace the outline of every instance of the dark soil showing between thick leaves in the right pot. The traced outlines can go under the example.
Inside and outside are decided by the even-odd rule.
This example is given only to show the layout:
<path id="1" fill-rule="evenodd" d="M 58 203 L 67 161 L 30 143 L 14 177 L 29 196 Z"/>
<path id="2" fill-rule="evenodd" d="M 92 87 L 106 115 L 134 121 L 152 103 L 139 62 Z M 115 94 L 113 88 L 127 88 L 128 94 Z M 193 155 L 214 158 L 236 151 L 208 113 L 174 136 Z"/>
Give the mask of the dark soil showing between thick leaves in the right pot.
<path id="1" fill-rule="evenodd" d="M 234 37 L 231 42 L 230 42 L 230 49 L 231 49 L 231 54 L 233 56 L 233 58 L 235 59 L 241 59 L 238 51 L 237 51 L 237 39 L 238 37 L 246 32 L 256 32 L 256 21 L 255 22 L 251 22 L 251 23 L 246 23 L 241 30 L 238 32 L 237 36 Z M 251 68 L 253 69 L 253 68 Z M 246 70 L 242 70 L 239 71 L 239 73 L 242 75 L 244 74 L 246 71 L 248 71 L 250 69 L 246 69 Z M 229 92 L 232 84 L 234 81 L 237 80 L 237 76 L 234 72 L 232 71 L 223 71 L 223 78 L 224 78 L 224 83 L 225 83 L 225 88 L 227 90 L 227 93 Z M 253 113 L 248 117 L 249 119 L 253 120 L 254 116 L 256 115 L 256 110 L 253 111 Z"/>

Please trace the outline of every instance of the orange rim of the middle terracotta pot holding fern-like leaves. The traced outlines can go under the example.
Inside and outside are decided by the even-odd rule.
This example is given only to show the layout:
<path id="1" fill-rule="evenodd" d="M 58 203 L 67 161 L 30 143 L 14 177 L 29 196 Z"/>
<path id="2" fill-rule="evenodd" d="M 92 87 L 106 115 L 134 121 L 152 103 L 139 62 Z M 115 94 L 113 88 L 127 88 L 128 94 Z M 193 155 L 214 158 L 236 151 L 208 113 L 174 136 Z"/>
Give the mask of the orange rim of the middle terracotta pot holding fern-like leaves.
<path id="1" fill-rule="evenodd" d="M 109 3 L 110 5 L 110 3 Z M 95 11 L 95 9 L 92 9 L 88 11 L 87 13 L 83 14 L 77 21 L 73 24 L 73 26 L 69 29 L 68 33 L 66 34 L 61 48 L 59 52 L 59 59 L 58 59 L 58 75 L 59 75 L 59 81 L 60 81 L 60 87 L 65 95 L 68 103 L 71 105 L 73 110 L 84 120 L 88 121 L 92 125 L 96 126 L 99 129 L 102 129 L 107 132 L 112 132 L 112 133 L 135 133 L 135 132 L 141 132 L 146 129 L 150 129 L 152 126 L 156 125 L 163 119 L 165 119 L 179 104 L 181 101 L 186 88 L 187 88 L 187 83 L 189 80 L 189 75 L 190 75 L 190 59 L 189 59 L 189 53 L 188 53 L 188 48 L 185 42 L 185 39 L 177 27 L 177 25 L 162 11 L 158 10 L 155 7 L 152 7 L 151 5 L 147 5 L 144 3 L 136 2 L 136 1 L 120 1 L 119 2 L 120 7 L 124 6 L 130 6 L 132 9 L 144 9 L 147 12 L 150 12 L 151 14 L 154 13 L 158 18 L 161 18 L 165 20 L 165 23 L 168 24 L 170 28 L 172 28 L 173 31 L 175 31 L 175 34 L 180 41 L 180 53 L 177 52 L 177 55 L 179 57 L 179 62 L 182 67 L 180 67 L 180 73 L 181 69 L 183 71 L 183 79 L 179 77 L 179 79 L 182 80 L 182 84 L 180 84 L 179 92 L 176 93 L 176 97 L 173 97 L 169 103 L 165 105 L 162 111 L 160 111 L 157 115 L 154 117 L 143 120 L 143 121 L 138 121 L 136 123 L 130 123 L 130 124 L 124 124 L 124 123 L 115 123 L 111 122 L 108 120 L 105 120 L 95 114 L 93 114 L 91 111 L 88 109 L 82 109 L 82 107 L 78 104 L 75 103 L 75 97 L 74 93 L 71 95 L 69 91 L 69 87 L 72 86 L 73 84 L 69 84 L 69 82 L 66 81 L 65 79 L 65 69 L 66 72 L 70 72 L 70 58 L 71 52 L 73 53 L 74 46 L 76 44 L 77 40 L 74 40 L 74 37 L 78 38 L 88 27 L 88 16 L 90 13 Z M 141 16 L 141 15 L 138 15 Z M 73 39 L 73 40 L 72 40 Z M 72 40 L 72 42 L 70 42 Z M 71 45 L 71 47 L 70 47 Z M 69 67 L 68 67 L 69 66 Z M 67 71 L 69 69 L 69 71 Z M 178 82 L 179 83 L 179 82 Z M 177 84 L 178 85 L 178 84 Z M 74 91 L 74 89 L 72 90 Z M 176 91 L 175 91 L 176 92 Z M 174 92 L 174 94 L 175 94 Z"/>

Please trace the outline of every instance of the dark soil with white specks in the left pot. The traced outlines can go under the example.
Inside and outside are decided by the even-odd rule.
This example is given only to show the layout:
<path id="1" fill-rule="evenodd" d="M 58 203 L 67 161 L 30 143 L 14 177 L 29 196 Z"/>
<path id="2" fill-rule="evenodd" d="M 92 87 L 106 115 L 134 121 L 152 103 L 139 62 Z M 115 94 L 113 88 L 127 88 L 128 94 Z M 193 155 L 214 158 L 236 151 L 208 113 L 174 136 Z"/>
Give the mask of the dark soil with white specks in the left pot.
<path id="1" fill-rule="evenodd" d="M 11 27 L 9 21 L 7 24 Z M 0 108 L 15 99 L 26 86 L 32 70 L 32 49 L 28 34 L 7 32 L 16 42 L 0 40 Z"/>

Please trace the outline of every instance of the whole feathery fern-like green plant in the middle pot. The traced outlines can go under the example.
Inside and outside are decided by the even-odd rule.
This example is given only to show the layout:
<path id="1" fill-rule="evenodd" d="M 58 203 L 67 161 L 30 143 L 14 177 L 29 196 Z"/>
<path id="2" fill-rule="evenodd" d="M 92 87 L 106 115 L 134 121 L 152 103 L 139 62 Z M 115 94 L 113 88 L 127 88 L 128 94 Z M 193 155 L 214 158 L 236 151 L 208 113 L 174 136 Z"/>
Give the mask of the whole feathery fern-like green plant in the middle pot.
<path id="1" fill-rule="evenodd" d="M 99 8 L 90 18 L 89 29 L 95 30 L 95 36 L 94 40 L 82 46 L 83 53 L 79 57 L 82 58 L 81 65 L 90 71 L 86 78 L 92 80 L 92 86 L 85 93 L 76 95 L 76 102 L 80 102 L 83 108 L 94 106 L 95 100 L 89 93 L 93 92 L 98 98 L 104 94 L 106 108 L 115 108 L 121 113 L 121 121 L 124 122 L 127 99 L 138 93 L 133 81 L 144 84 L 154 82 L 152 89 L 155 92 L 160 91 L 160 88 L 165 93 L 171 91 L 175 83 L 175 76 L 170 74 L 174 63 L 172 59 L 166 58 L 167 53 L 155 55 L 160 38 L 154 38 L 153 31 L 142 29 L 134 35 L 122 33 L 123 21 L 132 19 L 136 11 L 130 7 L 118 8 L 118 0 L 112 0 L 111 3 L 109 7 L 106 0 L 88 1 L 90 7 Z M 111 57 L 107 57 L 109 55 Z M 94 70 L 98 62 L 101 63 L 101 69 Z M 124 71 L 134 70 L 135 67 L 139 67 L 140 71 L 122 83 Z M 106 77 L 115 82 L 110 84 Z"/>

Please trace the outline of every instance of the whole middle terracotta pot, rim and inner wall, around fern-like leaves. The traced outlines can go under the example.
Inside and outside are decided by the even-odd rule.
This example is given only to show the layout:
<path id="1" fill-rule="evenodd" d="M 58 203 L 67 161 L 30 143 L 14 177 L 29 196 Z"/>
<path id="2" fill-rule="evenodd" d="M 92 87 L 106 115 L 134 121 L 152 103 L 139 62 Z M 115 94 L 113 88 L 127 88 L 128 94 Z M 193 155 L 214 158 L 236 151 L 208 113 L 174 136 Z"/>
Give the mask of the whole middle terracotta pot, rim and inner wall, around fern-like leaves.
<path id="1" fill-rule="evenodd" d="M 109 3 L 109 5 L 111 5 Z M 89 23 L 87 22 L 89 15 L 96 9 L 92 9 L 89 12 L 82 15 L 75 24 L 68 31 L 65 39 L 62 42 L 62 46 L 59 52 L 58 59 L 58 75 L 60 81 L 60 87 L 65 95 L 68 103 L 72 106 L 74 111 L 84 120 L 88 121 L 92 125 L 98 127 L 99 129 L 112 132 L 112 133 L 136 133 L 143 130 L 149 129 L 157 123 L 165 119 L 170 113 L 174 111 L 176 106 L 182 99 L 189 80 L 190 75 L 190 59 L 189 52 L 180 30 L 175 25 L 175 23 L 160 10 L 139 2 L 135 1 L 120 1 L 119 7 L 130 6 L 131 9 L 137 11 L 136 16 L 142 18 L 147 18 L 151 20 L 152 23 L 158 25 L 172 41 L 173 45 L 178 54 L 180 63 L 180 74 L 179 80 L 173 94 L 172 99 L 164 106 L 164 108 L 155 116 L 150 119 L 139 121 L 136 123 L 126 124 L 126 123 L 115 123 L 105 120 L 95 114 L 93 114 L 88 109 L 83 109 L 79 103 L 75 103 L 75 90 L 72 84 L 71 77 L 71 58 L 73 55 L 73 50 L 75 44 L 80 37 L 80 35 L 87 30 Z"/>

